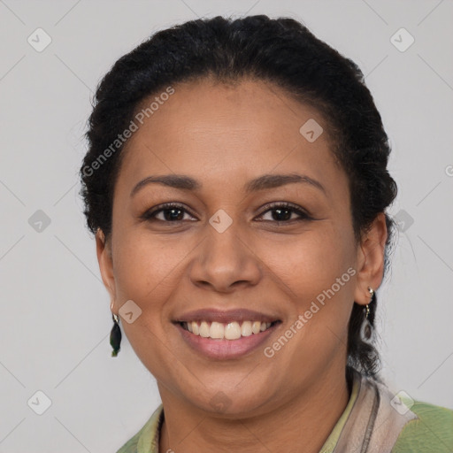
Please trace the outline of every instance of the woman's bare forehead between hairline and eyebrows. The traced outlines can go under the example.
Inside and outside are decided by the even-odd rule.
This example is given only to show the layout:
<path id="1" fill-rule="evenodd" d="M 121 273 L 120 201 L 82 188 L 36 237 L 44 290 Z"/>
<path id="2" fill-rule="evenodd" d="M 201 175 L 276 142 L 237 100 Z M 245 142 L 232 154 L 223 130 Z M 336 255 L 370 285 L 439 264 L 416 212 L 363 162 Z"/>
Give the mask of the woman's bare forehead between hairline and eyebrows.
<path id="1" fill-rule="evenodd" d="M 309 142 L 300 132 L 307 121 L 326 131 L 319 111 L 270 82 L 203 80 L 173 89 L 127 141 L 120 172 L 125 178 L 136 182 L 149 174 L 186 173 L 235 185 L 262 173 L 300 170 L 325 180 L 325 186 L 329 179 L 344 180 L 327 134 Z M 137 111 L 158 96 L 150 96 Z"/>

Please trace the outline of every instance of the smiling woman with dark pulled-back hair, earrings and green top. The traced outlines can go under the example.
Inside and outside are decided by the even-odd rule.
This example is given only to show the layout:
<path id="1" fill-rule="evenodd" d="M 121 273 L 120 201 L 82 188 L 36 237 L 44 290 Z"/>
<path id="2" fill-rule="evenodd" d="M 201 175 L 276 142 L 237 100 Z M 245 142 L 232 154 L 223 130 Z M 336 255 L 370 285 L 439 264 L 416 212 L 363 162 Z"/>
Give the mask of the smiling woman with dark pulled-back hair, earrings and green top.
<path id="1" fill-rule="evenodd" d="M 162 404 L 130 452 L 449 451 L 373 346 L 396 196 L 352 61 L 294 19 L 199 19 L 119 59 L 81 166 L 121 325 Z"/>

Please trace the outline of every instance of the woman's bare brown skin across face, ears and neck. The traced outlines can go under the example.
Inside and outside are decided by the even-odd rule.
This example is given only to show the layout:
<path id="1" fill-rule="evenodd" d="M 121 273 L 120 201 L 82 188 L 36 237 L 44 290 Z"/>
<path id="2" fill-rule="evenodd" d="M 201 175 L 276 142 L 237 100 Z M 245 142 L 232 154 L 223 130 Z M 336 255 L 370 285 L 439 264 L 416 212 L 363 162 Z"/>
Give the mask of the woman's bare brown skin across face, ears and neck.
<path id="1" fill-rule="evenodd" d="M 142 310 L 134 323 L 121 324 L 157 379 L 165 410 L 159 451 L 318 452 L 349 399 L 349 315 L 354 301 L 370 302 L 368 287 L 380 286 L 384 214 L 357 246 L 347 175 L 334 162 L 319 111 L 264 81 L 232 86 L 203 80 L 174 88 L 127 141 L 112 233 L 106 242 L 101 231 L 96 234 L 112 311 L 129 299 Z M 325 130 L 315 142 L 299 133 L 308 119 Z M 203 187 L 153 183 L 130 196 L 143 178 L 173 173 Z M 291 183 L 247 195 L 244 183 L 265 173 L 308 175 L 326 194 Z M 180 211 L 182 221 L 172 223 L 168 211 L 140 219 L 167 202 L 188 210 Z M 297 221 L 292 212 L 278 225 L 275 211 L 263 209 L 277 202 L 294 203 L 311 219 Z M 233 220 L 221 234 L 209 223 L 219 209 Z M 284 347 L 265 357 L 265 346 L 349 267 L 356 274 Z M 247 356 L 213 360 L 191 349 L 171 322 L 202 308 L 247 308 L 281 324 Z M 223 411 L 211 406 L 219 392 L 228 401 Z"/>

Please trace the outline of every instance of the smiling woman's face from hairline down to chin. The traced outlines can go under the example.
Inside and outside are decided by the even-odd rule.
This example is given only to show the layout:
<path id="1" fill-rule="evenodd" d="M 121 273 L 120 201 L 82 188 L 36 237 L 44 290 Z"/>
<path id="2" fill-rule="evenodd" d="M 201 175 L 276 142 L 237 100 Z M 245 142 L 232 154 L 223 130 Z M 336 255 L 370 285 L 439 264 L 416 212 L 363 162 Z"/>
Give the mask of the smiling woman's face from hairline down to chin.
<path id="1" fill-rule="evenodd" d="M 380 285 L 385 236 L 355 246 L 318 111 L 262 81 L 174 89 L 126 144 L 111 241 L 96 236 L 103 279 L 163 400 L 270 411 L 344 377 L 350 311 Z M 175 187 L 181 175 L 194 182 Z M 162 203 L 178 206 L 146 217 Z M 254 321 L 272 324 L 250 333 Z"/>

